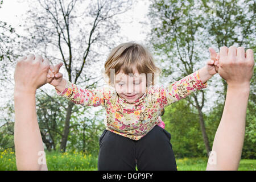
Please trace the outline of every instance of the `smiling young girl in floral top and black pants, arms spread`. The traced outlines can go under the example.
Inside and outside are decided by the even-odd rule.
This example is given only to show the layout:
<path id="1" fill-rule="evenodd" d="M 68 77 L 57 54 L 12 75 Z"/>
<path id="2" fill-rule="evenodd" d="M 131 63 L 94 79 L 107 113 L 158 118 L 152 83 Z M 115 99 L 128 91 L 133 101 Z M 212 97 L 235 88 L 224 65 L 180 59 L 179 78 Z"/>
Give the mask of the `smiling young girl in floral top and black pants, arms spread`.
<path id="1" fill-rule="evenodd" d="M 105 63 L 109 86 L 83 89 L 63 78 L 61 65 L 55 66 L 55 78 L 50 82 L 59 96 L 75 104 L 106 109 L 99 170 L 135 170 L 136 165 L 139 170 L 176 170 L 171 134 L 164 130 L 159 115 L 164 107 L 207 87 L 207 80 L 216 74 L 213 60 L 166 87 L 155 86 L 160 69 L 150 52 L 133 42 L 110 52 Z M 48 77 L 51 75 L 49 72 Z"/>

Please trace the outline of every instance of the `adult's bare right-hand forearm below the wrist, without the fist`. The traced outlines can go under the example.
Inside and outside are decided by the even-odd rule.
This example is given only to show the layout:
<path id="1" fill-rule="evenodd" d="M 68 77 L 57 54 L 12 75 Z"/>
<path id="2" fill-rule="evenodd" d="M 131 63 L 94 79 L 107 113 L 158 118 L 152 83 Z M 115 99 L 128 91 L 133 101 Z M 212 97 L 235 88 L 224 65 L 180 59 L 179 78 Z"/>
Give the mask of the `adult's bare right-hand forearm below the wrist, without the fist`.
<path id="1" fill-rule="evenodd" d="M 237 170 L 245 136 L 245 117 L 250 85 L 228 86 L 224 111 L 214 142 L 208 169 Z"/>

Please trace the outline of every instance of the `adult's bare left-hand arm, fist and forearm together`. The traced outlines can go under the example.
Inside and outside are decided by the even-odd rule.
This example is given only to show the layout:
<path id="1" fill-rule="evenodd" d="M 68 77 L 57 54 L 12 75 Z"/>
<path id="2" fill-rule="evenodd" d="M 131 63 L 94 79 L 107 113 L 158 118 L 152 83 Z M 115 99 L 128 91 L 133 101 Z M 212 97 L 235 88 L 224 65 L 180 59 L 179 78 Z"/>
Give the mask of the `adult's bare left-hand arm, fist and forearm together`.
<path id="1" fill-rule="evenodd" d="M 47 170 L 46 156 L 36 116 L 36 89 L 47 79 L 49 61 L 28 55 L 16 64 L 14 72 L 14 144 L 18 170 Z"/>

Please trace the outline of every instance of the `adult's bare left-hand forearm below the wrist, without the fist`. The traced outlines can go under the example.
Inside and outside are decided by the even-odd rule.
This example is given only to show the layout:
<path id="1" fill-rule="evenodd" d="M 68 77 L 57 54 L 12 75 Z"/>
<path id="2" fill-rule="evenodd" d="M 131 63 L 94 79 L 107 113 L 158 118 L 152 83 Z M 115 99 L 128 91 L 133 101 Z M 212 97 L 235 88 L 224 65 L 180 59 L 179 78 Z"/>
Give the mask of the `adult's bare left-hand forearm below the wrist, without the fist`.
<path id="1" fill-rule="evenodd" d="M 39 158 L 42 158 L 40 151 L 44 151 L 44 147 L 36 115 L 35 94 L 14 91 L 14 109 L 14 144 L 17 169 L 47 169 L 46 164 L 39 163 Z M 42 161 L 46 160 L 43 159 Z"/>

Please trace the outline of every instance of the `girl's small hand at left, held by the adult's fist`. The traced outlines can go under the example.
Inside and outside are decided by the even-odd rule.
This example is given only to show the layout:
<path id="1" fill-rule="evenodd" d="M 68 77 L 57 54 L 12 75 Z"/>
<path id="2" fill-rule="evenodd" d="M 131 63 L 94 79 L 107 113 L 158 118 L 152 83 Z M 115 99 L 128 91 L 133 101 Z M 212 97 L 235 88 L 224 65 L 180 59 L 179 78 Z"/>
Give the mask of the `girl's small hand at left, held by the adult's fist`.
<path id="1" fill-rule="evenodd" d="M 47 78 L 49 79 L 49 84 L 52 86 L 58 86 L 60 85 L 61 81 L 63 80 L 63 74 L 59 73 L 60 67 L 63 65 L 63 63 L 59 63 L 53 67 L 50 66 L 49 72 L 47 74 Z"/>

